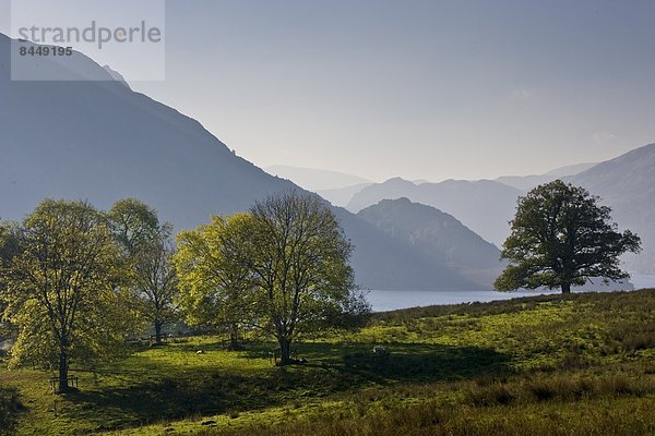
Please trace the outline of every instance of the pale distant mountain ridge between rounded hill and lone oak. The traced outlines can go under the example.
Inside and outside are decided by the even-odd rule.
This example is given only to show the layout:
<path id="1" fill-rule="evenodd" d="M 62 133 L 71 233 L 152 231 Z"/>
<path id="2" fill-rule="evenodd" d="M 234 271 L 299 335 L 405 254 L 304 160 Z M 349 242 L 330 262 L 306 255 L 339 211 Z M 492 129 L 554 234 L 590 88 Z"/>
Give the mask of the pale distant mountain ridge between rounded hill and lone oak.
<path id="1" fill-rule="evenodd" d="M 515 187 L 490 180 L 446 180 L 416 185 L 403 179 L 390 179 L 361 190 L 347 208 L 358 211 L 381 199 L 407 197 L 454 216 L 485 240 L 500 246 L 509 234 L 508 222 L 514 215 L 516 198 L 522 194 Z"/>

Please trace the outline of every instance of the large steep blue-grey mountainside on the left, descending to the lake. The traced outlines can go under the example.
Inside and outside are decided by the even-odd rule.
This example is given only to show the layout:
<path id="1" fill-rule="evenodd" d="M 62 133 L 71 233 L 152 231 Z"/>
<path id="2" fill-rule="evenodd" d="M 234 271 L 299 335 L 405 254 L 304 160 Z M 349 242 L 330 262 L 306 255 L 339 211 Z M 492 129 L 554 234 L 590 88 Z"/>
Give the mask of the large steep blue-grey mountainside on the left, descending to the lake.
<path id="1" fill-rule="evenodd" d="M 0 217 L 21 219 L 46 196 L 86 198 L 100 208 L 133 196 L 176 228 L 213 214 L 246 210 L 269 194 L 298 189 L 230 152 L 195 120 L 139 93 L 75 53 L 48 65 L 102 82 L 12 82 L 10 39 L 0 34 Z M 82 73 L 80 72 L 82 71 Z M 467 289 L 463 277 L 434 266 L 345 209 L 335 209 L 356 245 L 364 287 Z"/>

